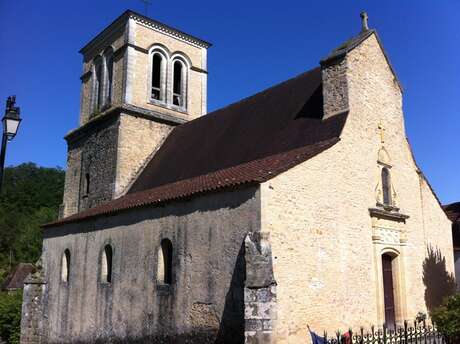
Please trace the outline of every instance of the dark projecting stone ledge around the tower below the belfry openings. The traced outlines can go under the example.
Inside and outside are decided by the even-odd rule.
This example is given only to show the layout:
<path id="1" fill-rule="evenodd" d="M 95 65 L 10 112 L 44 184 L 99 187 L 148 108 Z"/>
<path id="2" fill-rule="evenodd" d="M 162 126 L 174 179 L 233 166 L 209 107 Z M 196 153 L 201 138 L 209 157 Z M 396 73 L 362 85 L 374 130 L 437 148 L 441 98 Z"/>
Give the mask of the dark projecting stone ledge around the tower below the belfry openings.
<path id="1" fill-rule="evenodd" d="M 187 122 L 187 120 L 175 117 L 173 115 L 147 110 L 130 104 L 122 104 L 110 107 L 106 111 L 102 112 L 100 115 L 90 119 L 81 127 L 70 131 L 66 136 L 64 136 L 64 139 L 68 143 L 76 141 L 81 137 L 87 135 L 88 133 L 92 132 L 94 128 L 97 128 L 102 123 L 109 121 L 110 119 L 120 115 L 121 113 L 136 117 L 142 117 L 162 123 L 167 123 L 173 126 L 184 124 L 185 122 Z"/>

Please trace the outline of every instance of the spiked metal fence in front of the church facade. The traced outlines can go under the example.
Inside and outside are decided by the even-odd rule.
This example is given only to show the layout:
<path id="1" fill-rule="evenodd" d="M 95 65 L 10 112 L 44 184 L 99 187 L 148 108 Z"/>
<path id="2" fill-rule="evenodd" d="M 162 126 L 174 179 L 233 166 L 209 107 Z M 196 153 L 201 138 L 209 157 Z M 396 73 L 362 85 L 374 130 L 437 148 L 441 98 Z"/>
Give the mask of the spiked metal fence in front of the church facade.
<path id="1" fill-rule="evenodd" d="M 394 329 L 396 328 L 396 329 Z M 351 329 L 347 332 L 337 332 L 334 336 L 324 333 L 326 344 L 455 344 L 448 343 L 433 325 L 427 325 L 425 321 L 389 329 L 386 327 L 371 327 L 369 331 L 361 328 L 357 332 Z"/>

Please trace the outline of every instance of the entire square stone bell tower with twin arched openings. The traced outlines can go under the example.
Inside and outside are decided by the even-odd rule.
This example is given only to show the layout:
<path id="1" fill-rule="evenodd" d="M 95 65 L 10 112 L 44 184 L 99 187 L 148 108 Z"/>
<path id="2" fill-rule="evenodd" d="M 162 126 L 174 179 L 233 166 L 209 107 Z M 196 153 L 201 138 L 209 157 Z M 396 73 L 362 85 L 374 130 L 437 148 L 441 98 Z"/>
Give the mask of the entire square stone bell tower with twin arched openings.
<path id="1" fill-rule="evenodd" d="M 175 126 L 206 113 L 209 47 L 126 11 L 80 50 L 61 216 L 122 196 Z"/>

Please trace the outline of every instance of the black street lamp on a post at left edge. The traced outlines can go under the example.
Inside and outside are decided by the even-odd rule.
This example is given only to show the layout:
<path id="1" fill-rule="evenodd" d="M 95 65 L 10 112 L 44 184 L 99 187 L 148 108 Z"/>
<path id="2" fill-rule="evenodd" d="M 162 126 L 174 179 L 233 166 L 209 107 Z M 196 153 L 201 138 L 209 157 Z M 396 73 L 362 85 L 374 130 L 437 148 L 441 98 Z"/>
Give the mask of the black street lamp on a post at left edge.
<path id="1" fill-rule="evenodd" d="M 6 145 L 11 141 L 18 131 L 21 118 L 19 117 L 20 109 L 16 104 L 16 96 L 10 96 L 6 100 L 5 116 L 2 118 L 3 135 L 2 135 L 2 150 L 0 152 L 0 192 L 3 184 L 3 169 L 5 167 Z"/>

